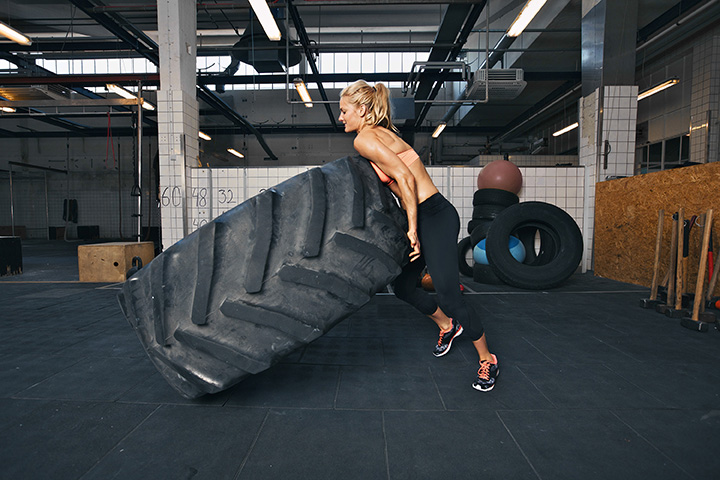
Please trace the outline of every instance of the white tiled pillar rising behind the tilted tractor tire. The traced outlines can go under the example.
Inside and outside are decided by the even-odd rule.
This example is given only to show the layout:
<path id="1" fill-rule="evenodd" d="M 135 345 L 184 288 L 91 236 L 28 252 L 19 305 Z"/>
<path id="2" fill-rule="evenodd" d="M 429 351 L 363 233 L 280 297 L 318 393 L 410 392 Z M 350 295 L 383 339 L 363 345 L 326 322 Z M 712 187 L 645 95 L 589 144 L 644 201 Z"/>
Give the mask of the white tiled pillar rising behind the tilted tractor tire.
<path id="1" fill-rule="evenodd" d="M 162 243 L 167 248 L 189 233 L 189 169 L 198 165 L 196 95 L 197 11 L 193 0 L 158 0 L 160 89 L 158 149 Z"/>

